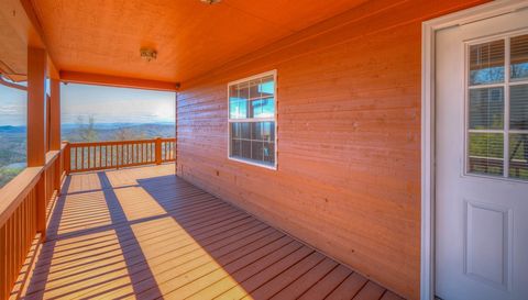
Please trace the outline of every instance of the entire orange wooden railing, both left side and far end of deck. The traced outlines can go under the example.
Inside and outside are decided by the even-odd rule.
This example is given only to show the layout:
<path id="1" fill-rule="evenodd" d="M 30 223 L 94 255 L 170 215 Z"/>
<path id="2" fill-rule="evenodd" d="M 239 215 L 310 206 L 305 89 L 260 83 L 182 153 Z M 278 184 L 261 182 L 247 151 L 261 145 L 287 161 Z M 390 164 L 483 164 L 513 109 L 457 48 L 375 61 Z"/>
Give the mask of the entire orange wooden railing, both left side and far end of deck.
<path id="1" fill-rule="evenodd" d="M 175 160 L 176 138 L 65 143 L 44 166 L 24 169 L 0 189 L 0 299 L 10 297 L 35 236 L 45 241 L 47 208 L 65 175 Z"/>

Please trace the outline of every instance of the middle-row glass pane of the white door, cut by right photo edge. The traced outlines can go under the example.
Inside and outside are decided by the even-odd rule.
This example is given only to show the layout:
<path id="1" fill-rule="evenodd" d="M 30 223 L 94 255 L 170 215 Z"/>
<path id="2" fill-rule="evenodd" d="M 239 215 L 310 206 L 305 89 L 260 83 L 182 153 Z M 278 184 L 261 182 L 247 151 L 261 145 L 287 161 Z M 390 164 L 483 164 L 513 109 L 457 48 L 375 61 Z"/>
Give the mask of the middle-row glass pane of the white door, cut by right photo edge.
<path id="1" fill-rule="evenodd" d="M 509 129 L 528 130 L 528 85 L 509 88 Z"/>

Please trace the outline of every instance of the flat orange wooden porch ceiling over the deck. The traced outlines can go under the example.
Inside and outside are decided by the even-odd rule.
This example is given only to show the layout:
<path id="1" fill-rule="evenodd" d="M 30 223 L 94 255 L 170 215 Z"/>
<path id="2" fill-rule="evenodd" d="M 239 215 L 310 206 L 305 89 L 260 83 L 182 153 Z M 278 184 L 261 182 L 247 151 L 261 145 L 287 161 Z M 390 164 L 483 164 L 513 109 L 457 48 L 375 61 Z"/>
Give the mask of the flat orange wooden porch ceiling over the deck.
<path id="1" fill-rule="evenodd" d="M 57 69 L 185 82 L 365 0 L 21 0 Z M 158 53 L 142 60 L 141 47 Z"/>

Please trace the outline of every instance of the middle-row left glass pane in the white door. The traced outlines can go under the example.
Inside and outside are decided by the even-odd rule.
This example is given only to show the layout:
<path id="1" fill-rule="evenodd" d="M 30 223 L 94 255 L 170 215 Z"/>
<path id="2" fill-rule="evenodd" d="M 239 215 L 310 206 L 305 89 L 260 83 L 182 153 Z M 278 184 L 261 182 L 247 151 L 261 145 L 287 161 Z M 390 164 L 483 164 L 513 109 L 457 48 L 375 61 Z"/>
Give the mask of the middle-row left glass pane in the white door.
<path id="1" fill-rule="evenodd" d="M 504 88 L 470 90 L 470 129 L 504 127 Z"/>

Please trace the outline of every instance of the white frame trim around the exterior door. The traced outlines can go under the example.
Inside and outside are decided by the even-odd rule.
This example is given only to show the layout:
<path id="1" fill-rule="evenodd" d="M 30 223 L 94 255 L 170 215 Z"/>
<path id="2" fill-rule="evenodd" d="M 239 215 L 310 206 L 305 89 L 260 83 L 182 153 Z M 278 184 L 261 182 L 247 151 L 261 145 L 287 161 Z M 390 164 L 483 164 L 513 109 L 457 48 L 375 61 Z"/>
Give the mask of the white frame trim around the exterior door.
<path id="1" fill-rule="evenodd" d="M 435 297 L 435 36 L 442 29 L 528 9 L 526 0 L 498 0 L 443 15 L 421 27 L 421 264 L 420 298 Z"/>

